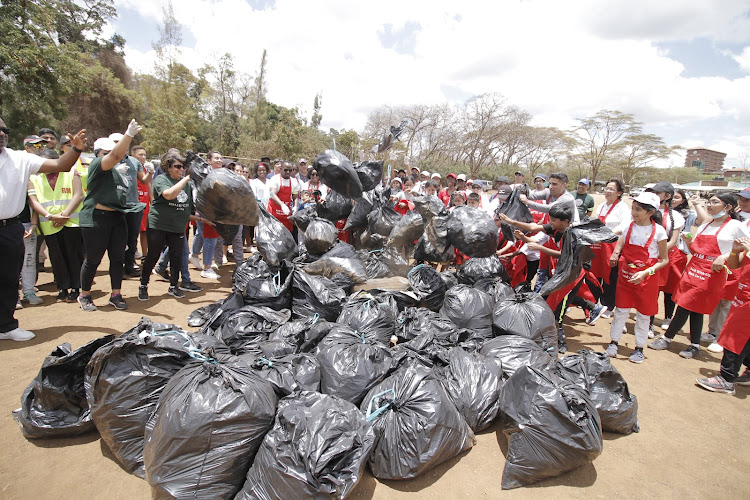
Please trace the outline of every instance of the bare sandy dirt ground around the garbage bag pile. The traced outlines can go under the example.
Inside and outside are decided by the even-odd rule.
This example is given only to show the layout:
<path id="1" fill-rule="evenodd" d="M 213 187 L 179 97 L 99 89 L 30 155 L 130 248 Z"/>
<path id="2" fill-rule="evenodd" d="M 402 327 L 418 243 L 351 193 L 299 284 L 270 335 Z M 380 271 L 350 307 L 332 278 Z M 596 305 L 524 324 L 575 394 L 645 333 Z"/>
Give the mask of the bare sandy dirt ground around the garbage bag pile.
<path id="1" fill-rule="evenodd" d="M 599 201 L 599 200 L 597 200 Z M 39 276 L 40 306 L 16 311 L 23 328 L 36 333 L 29 342 L 0 343 L 0 498 L 149 498 L 148 484 L 125 472 L 97 433 L 70 439 L 26 440 L 11 412 L 47 356 L 64 342 L 77 348 L 105 334 L 120 334 L 141 316 L 187 327 L 188 314 L 226 296 L 231 271 L 224 266 L 219 282 L 194 280 L 204 291 L 184 299 L 167 295 L 167 283 L 152 280 L 151 300 L 139 302 L 137 279 L 123 284 L 130 309 L 105 306 L 109 278 L 105 263 L 94 284 L 98 311 L 83 312 L 77 304 L 55 303 L 56 290 L 49 269 Z M 381 283 L 382 284 L 382 283 Z M 398 280 L 392 282 L 398 288 Z M 566 333 L 570 352 L 603 350 L 609 341 L 610 320 L 586 325 L 579 309 L 571 311 Z M 657 323 L 661 323 L 661 316 Z M 592 464 L 536 485 L 502 492 L 507 448 L 501 424 L 477 436 L 473 449 L 411 481 L 378 481 L 368 473 L 351 495 L 355 499 L 454 498 L 747 498 L 750 490 L 748 406 L 750 387 L 735 396 L 714 394 L 695 385 L 698 376 L 718 371 L 720 355 L 701 351 L 698 360 L 677 355 L 687 343 L 679 335 L 669 351 L 645 350 L 646 361 L 629 363 L 631 332 L 621 341 L 614 365 L 638 397 L 641 432 L 630 436 L 606 434 L 601 456 Z M 734 445 L 732 445 L 734 443 Z M 730 446 L 731 445 L 731 446 Z"/>

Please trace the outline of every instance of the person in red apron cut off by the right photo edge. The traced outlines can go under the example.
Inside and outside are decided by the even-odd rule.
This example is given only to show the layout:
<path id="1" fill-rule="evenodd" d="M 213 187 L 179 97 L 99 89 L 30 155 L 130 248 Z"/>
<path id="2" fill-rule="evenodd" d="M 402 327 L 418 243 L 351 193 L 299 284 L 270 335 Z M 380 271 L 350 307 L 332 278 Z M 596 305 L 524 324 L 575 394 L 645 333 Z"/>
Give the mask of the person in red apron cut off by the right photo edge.
<path id="1" fill-rule="evenodd" d="M 727 265 L 737 269 L 739 275 L 737 293 L 732 301 L 724 327 L 721 329 L 719 344 L 724 348 L 720 374 L 711 378 L 699 378 L 698 385 L 713 392 L 734 394 L 734 384 L 742 364 L 750 355 L 750 238 L 740 238 L 734 242 Z M 747 364 L 747 363 L 745 363 Z M 747 373 L 747 370 L 746 372 Z M 745 384 L 743 384 L 745 385 Z"/>

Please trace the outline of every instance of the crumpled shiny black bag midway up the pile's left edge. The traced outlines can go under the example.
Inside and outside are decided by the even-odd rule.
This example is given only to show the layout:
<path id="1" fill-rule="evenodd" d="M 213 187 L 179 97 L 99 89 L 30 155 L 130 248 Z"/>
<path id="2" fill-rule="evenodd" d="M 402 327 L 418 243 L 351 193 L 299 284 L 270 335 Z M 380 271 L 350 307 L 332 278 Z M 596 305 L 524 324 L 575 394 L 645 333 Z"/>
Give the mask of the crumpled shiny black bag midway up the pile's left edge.
<path id="1" fill-rule="evenodd" d="M 245 305 L 270 307 L 276 311 L 292 307 L 292 267 L 287 261 L 270 266 L 260 253 L 240 263 L 232 276 L 232 288 L 241 293 Z"/>

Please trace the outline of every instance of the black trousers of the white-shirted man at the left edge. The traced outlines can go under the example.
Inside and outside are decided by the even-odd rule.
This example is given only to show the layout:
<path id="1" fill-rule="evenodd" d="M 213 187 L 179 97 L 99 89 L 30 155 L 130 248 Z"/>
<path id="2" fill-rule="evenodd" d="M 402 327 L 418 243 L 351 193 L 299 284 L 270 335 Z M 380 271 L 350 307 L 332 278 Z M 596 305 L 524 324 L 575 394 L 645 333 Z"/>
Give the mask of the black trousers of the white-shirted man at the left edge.
<path id="1" fill-rule="evenodd" d="M 23 266 L 23 224 L 19 220 L 0 225 L 0 332 L 9 332 L 18 328 L 18 321 L 13 315 L 18 302 L 18 280 L 21 279 Z"/>

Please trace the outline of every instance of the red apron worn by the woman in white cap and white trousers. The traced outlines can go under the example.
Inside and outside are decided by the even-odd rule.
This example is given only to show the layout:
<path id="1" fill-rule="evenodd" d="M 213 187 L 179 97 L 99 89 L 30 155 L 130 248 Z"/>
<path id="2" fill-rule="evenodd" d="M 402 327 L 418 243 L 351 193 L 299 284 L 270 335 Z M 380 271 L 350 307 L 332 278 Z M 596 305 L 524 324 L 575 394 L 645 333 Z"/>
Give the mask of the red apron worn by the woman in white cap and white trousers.
<path id="1" fill-rule="evenodd" d="M 635 308 L 641 314 L 653 316 L 659 312 L 659 278 L 658 276 L 646 276 L 643 281 L 634 285 L 628 280 L 637 272 L 643 271 L 657 262 L 658 258 L 648 256 L 648 247 L 654 241 L 656 234 L 656 222 L 651 221 L 651 236 L 645 246 L 630 243 L 630 233 L 633 231 L 635 222 L 630 223 L 628 234 L 625 236 L 625 244 L 617 265 L 620 269 L 620 277 L 617 280 L 617 293 L 615 294 L 615 306 L 622 309 Z"/>

